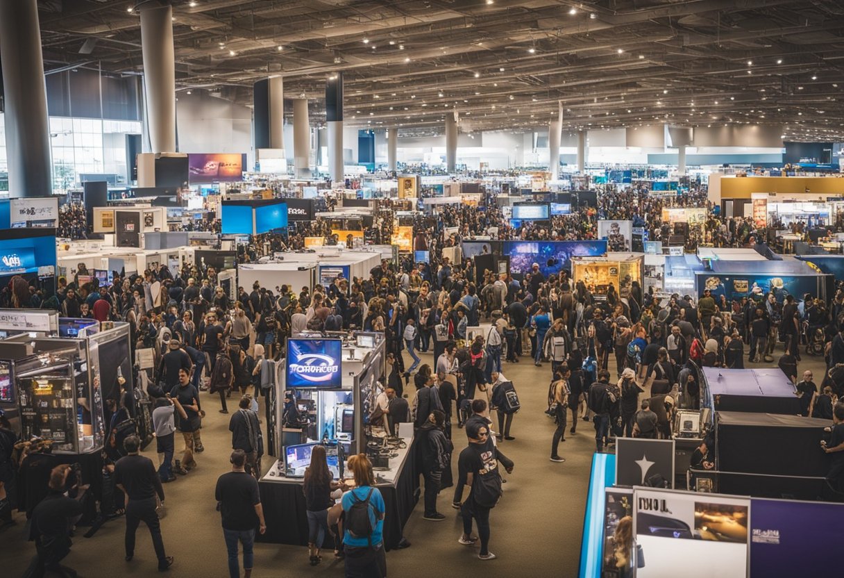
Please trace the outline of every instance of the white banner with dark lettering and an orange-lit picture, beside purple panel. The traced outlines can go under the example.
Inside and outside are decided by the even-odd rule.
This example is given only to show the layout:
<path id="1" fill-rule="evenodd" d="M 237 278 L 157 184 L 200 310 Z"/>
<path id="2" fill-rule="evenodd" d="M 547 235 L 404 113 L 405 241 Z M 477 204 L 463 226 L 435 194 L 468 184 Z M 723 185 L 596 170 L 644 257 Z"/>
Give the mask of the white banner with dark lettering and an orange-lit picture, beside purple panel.
<path id="1" fill-rule="evenodd" d="M 636 578 L 747 575 L 749 499 L 636 488 L 634 504 Z"/>

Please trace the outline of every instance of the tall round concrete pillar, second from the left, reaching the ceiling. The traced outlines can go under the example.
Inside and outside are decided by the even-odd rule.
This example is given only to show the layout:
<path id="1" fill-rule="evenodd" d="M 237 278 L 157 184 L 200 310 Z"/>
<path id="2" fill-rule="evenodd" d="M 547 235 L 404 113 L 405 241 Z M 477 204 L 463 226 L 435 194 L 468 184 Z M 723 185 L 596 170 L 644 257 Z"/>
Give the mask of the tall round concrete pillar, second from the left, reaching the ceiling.
<path id="1" fill-rule="evenodd" d="M 151 152 L 176 152 L 176 57 L 173 52 L 173 9 L 142 3 L 144 120 Z"/>

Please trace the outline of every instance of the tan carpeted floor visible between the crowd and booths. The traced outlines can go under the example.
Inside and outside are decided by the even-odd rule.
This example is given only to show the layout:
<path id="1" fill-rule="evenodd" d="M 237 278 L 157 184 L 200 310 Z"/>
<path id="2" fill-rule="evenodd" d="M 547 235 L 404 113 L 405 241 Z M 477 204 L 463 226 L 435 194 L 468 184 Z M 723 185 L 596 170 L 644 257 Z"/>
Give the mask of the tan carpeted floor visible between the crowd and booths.
<path id="1" fill-rule="evenodd" d="M 423 363 L 432 363 L 430 354 L 422 357 Z M 812 369 L 816 378 L 820 378 L 822 364 L 822 358 L 804 356 L 799 368 L 801 372 Z M 581 421 L 576 434 L 566 431 L 567 441 L 560 444 L 560 455 L 565 457 L 565 463 L 549 461 L 549 445 L 555 429 L 552 420 L 544 415 L 550 381 L 549 363 L 536 368 L 527 357 L 522 357 L 522 363 L 505 364 L 503 373 L 516 385 L 522 410 L 513 420 L 511 434 L 516 439 L 501 445 L 506 455 L 516 462 L 516 467 L 506 476 L 504 498 L 490 516 L 490 551 L 498 559 L 481 561 L 477 558 L 478 548 L 457 543 L 462 523 L 457 510 L 452 510 L 453 488 L 449 488 L 439 499 L 445 521 L 423 520 L 422 506 L 417 505 L 404 530 L 412 546 L 387 553 L 391 577 L 414 578 L 431 573 L 484 575 L 484 578 L 576 575 L 594 451 L 594 429 L 591 423 Z M 167 514 L 161 521 L 167 553 L 176 557 L 170 573 L 197 578 L 227 575 L 225 543 L 219 514 L 214 510 L 214 483 L 220 474 L 230 469 L 230 416 L 218 413 L 216 395 L 203 393 L 202 402 L 203 409 L 208 412 L 203 426 L 206 450 L 197 456 L 199 466 L 196 470 L 165 485 Z M 236 406 L 234 398 L 231 406 Z M 454 428 L 453 436 L 457 455 L 465 447 L 466 438 L 463 430 L 457 428 Z M 181 440 L 176 440 L 176 450 L 180 447 Z M 154 444 L 151 448 L 145 455 L 155 461 Z M 455 478 L 456 463 L 455 459 Z M 0 575 L 22 575 L 35 553 L 34 546 L 24 538 L 24 516 L 18 515 L 17 520 L 17 526 L 0 532 L 0 552 L 3 553 Z M 135 559 L 126 563 L 123 560 L 124 530 L 125 522 L 119 518 L 109 521 L 93 538 L 81 537 L 84 530 L 78 532 L 65 563 L 78 570 L 80 576 L 87 577 L 155 575 L 156 560 L 149 532 L 142 524 L 138 530 Z M 317 567 L 308 564 L 307 556 L 307 548 L 257 544 L 252 575 L 255 578 L 343 575 L 343 564 L 335 562 L 330 552 Z"/>

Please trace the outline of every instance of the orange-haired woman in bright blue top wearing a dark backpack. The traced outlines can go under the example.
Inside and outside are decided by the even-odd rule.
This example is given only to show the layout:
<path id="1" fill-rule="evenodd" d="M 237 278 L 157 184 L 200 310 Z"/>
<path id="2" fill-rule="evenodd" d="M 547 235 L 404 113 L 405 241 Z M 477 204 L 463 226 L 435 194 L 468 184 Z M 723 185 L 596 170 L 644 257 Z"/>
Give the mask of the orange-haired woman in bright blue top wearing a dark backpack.
<path id="1" fill-rule="evenodd" d="M 374 487 L 372 464 L 366 454 L 351 456 L 349 470 L 355 488 L 341 499 L 346 578 L 383 578 L 387 575 L 383 538 L 387 506 Z"/>

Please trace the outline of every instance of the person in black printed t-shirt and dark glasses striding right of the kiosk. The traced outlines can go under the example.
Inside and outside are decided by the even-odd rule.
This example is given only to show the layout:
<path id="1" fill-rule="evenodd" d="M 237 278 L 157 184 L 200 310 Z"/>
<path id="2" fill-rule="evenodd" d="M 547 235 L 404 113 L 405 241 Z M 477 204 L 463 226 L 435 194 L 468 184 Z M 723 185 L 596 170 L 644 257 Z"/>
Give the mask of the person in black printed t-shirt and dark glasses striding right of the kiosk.
<path id="1" fill-rule="evenodd" d="M 460 513 L 463 515 L 463 533 L 457 538 L 457 542 L 463 546 L 473 546 L 478 542 L 478 538 L 472 536 L 474 520 L 478 524 L 480 537 L 478 558 L 492 560 L 496 557 L 490 552 L 490 510 L 495 508 L 502 493 L 498 461 L 504 464 L 507 473 L 513 471 L 513 462 L 495 447 L 490 439 L 490 428 L 484 424 L 468 424 L 466 434 L 469 444 L 460 452 L 458 463 L 466 472 L 466 485 L 471 490 L 460 507 Z"/>

